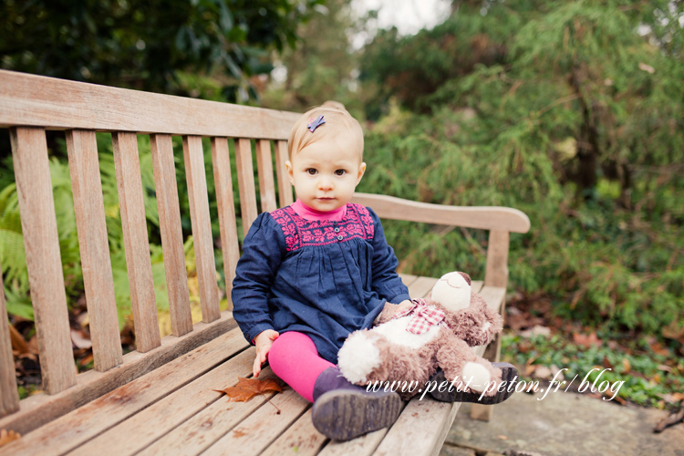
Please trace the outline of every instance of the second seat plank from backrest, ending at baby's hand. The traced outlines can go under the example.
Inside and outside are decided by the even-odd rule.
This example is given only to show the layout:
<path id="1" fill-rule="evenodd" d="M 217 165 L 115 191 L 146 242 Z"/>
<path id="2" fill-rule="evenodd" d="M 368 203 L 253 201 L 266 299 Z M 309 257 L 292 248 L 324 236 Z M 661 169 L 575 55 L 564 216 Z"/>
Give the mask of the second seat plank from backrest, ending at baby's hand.
<path id="1" fill-rule="evenodd" d="M 247 377 L 254 364 L 254 348 L 250 347 L 221 366 L 213 368 L 202 377 L 188 383 L 169 396 L 155 402 L 147 409 L 110 428 L 93 440 L 69 453 L 69 456 L 90 456 L 106 448 L 110 454 L 119 456 L 135 454 L 155 440 L 181 425 L 223 397 L 215 389 L 233 387 L 238 377 Z M 121 439 L 126 436 L 126 439 Z"/>

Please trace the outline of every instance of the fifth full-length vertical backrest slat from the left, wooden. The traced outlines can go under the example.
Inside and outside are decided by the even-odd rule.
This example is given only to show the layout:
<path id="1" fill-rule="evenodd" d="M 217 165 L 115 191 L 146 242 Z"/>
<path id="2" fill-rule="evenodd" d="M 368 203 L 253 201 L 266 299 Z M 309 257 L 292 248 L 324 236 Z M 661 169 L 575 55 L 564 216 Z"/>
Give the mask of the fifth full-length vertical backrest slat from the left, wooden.
<path id="1" fill-rule="evenodd" d="M 209 218 L 207 175 L 204 170 L 202 138 L 183 136 L 185 176 L 188 180 L 192 239 L 195 247 L 195 265 L 200 285 L 202 321 L 210 323 L 221 317 L 219 289 L 216 284 L 216 264 L 213 258 L 212 222 Z"/>

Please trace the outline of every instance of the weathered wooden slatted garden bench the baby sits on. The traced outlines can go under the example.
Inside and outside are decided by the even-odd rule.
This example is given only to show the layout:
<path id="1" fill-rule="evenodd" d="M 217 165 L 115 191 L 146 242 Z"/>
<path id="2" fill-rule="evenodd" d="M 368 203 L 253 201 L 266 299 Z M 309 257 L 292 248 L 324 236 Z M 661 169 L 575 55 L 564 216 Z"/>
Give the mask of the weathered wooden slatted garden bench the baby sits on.
<path id="1" fill-rule="evenodd" d="M 244 232 L 261 210 L 293 201 L 285 176 L 286 139 L 296 113 L 108 88 L 0 71 L 0 127 L 9 128 L 36 315 L 44 393 L 18 400 L 7 326 L 0 325 L 0 430 L 23 437 L 0 454 L 436 454 L 460 404 L 411 400 L 389 430 L 357 440 L 326 440 L 311 424 L 310 405 L 292 389 L 248 402 L 228 402 L 213 389 L 248 377 L 254 347 L 229 311 L 221 311 L 209 201 L 218 204 L 223 264 L 230 296 L 239 257 L 229 140 Z M 95 368 L 78 374 L 69 334 L 45 130 L 66 130 L 68 161 Z M 112 135 L 130 279 L 137 350 L 122 355 L 95 131 Z M 172 336 L 160 337 L 150 269 L 136 135 L 150 135 Z M 171 135 L 182 136 L 192 216 L 202 322 L 192 324 Z M 202 137 L 211 138 L 215 194 L 208 194 Z M 252 148 L 254 140 L 255 150 Z M 272 149 L 273 154 L 272 156 Z M 275 162 L 275 172 L 274 165 Z M 276 201 L 276 192 L 279 200 Z M 185 198 L 185 195 L 181 195 Z M 529 221 L 507 208 L 443 207 L 357 194 L 380 217 L 490 230 L 484 282 L 490 306 L 503 311 L 509 232 Z M 445 271 L 446 272 L 446 271 Z M 404 275 L 411 295 L 436 279 Z M 0 316 L 5 298 L 0 294 Z M 484 347 L 477 348 L 479 353 Z M 498 358 L 499 343 L 490 347 Z M 268 368 L 265 373 L 273 375 Z M 485 413 L 479 411 L 478 413 Z"/>

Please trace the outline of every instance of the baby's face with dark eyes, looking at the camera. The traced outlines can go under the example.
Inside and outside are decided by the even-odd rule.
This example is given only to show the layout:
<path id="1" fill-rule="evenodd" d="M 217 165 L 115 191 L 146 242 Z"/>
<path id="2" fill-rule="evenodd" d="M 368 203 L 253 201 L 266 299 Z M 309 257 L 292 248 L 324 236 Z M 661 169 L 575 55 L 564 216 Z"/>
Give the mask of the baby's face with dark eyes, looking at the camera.
<path id="1" fill-rule="evenodd" d="M 333 211 L 351 201 L 366 163 L 349 140 L 320 140 L 296 152 L 287 172 L 297 198 L 316 211 Z"/>

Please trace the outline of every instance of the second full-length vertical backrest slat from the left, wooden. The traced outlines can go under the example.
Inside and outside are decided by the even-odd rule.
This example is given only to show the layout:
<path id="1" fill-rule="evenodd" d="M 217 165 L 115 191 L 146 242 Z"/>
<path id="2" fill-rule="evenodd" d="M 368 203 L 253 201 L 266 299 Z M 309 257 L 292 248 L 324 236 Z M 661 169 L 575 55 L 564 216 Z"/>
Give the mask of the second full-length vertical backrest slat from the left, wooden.
<path id="1" fill-rule="evenodd" d="M 95 370 L 104 372 L 123 357 L 95 131 L 67 131 L 67 152 Z"/>

